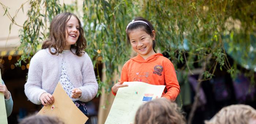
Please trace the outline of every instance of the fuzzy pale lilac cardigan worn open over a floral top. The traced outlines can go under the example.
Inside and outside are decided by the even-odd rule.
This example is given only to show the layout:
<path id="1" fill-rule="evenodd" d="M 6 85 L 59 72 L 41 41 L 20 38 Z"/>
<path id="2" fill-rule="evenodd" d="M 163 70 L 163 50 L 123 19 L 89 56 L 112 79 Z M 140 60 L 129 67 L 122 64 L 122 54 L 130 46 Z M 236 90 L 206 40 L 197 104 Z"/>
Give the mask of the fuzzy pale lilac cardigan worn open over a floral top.
<path id="1" fill-rule="evenodd" d="M 72 49 L 75 53 L 75 50 Z M 38 51 L 30 61 L 29 74 L 25 84 L 25 94 L 34 104 L 41 104 L 42 93 L 52 93 L 59 81 L 61 62 L 64 59 L 67 75 L 75 88 L 82 90 L 80 101 L 93 99 L 98 91 L 93 63 L 85 53 L 82 57 L 71 51 L 65 54 L 52 55 L 49 49 Z"/>

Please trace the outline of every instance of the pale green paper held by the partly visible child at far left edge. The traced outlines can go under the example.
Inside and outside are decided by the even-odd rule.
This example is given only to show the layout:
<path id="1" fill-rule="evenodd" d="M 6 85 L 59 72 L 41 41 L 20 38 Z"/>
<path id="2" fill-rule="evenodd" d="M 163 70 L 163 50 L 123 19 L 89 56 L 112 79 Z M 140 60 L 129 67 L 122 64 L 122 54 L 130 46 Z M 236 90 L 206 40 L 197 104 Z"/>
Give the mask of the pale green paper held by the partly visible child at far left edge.
<path id="1" fill-rule="evenodd" d="M 3 84 L 0 69 L 0 84 Z M 7 115 L 5 109 L 4 94 L 0 92 L 0 124 L 8 124 Z"/>

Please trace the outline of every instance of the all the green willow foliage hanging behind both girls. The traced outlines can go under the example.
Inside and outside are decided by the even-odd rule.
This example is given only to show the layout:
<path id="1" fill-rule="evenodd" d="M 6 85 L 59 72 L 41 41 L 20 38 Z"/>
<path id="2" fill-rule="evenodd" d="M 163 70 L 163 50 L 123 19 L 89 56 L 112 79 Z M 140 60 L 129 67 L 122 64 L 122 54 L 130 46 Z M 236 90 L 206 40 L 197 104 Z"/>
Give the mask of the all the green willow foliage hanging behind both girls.
<path id="1" fill-rule="evenodd" d="M 105 64 L 106 69 L 102 71 L 106 81 L 102 82 L 98 77 L 98 82 L 99 88 L 105 88 L 107 92 L 116 83 L 112 79 L 114 72 L 129 59 L 125 28 L 138 16 L 153 24 L 158 50 L 169 54 L 174 65 L 184 65 L 179 71 L 188 72 L 195 68 L 195 64 L 202 67 L 206 63 L 204 79 L 214 76 L 217 65 L 221 70 L 224 68 L 228 73 L 236 74 L 239 71 L 237 63 L 230 65 L 226 52 L 242 52 L 241 60 L 245 65 L 247 51 L 253 48 L 252 52 L 256 53 L 256 46 L 252 45 L 255 40 L 250 42 L 256 31 L 255 4 L 251 0 L 84 0 L 82 5 L 77 1 L 60 5 L 58 0 L 30 0 L 28 19 L 19 35 L 21 45 L 18 50 L 23 50 L 20 61 L 30 59 L 40 49 L 48 37 L 49 22 L 54 15 L 69 11 L 76 13 L 83 23 L 89 46 L 86 51 L 98 74 L 98 65 Z M 7 8 L 3 14 L 6 12 Z M 256 57 L 252 59 L 251 66 L 255 67 Z M 248 76 L 253 72 L 252 68 Z"/>

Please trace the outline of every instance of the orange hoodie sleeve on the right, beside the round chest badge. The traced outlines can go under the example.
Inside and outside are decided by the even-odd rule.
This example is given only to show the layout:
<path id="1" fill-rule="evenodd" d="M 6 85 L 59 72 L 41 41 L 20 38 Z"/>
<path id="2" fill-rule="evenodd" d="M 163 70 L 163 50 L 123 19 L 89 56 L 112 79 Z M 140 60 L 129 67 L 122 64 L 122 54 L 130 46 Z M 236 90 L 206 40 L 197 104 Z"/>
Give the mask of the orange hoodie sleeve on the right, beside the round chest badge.
<path id="1" fill-rule="evenodd" d="M 180 93 L 180 85 L 177 80 L 177 75 L 174 66 L 169 63 L 166 67 L 163 67 L 165 73 L 165 84 L 167 92 L 163 97 L 170 99 L 172 101 L 176 100 L 176 97 Z"/>

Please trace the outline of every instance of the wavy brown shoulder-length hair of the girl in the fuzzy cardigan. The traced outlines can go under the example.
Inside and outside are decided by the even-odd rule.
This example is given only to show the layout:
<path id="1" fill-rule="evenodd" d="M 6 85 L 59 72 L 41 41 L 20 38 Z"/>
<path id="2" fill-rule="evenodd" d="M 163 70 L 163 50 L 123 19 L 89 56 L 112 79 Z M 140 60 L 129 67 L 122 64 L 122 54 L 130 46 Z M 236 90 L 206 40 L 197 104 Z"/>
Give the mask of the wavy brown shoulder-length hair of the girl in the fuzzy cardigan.
<path id="1" fill-rule="evenodd" d="M 66 45 L 66 34 L 65 32 L 67 31 L 67 22 L 71 18 L 71 16 L 74 16 L 79 23 L 79 32 L 80 35 L 78 37 L 78 40 L 76 41 L 75 44 L 71 45 L 71 48 L 76 49 L 76 55 L 79 57 L 84 54 L 84 49 L 86 48 L 86 39 L 84 38 L 84 30 L 82 27 L 82 24 L 78 17 L 70 12 L 63 12 L 58 15 L 56 15 L 51 24 L 50 24 L 50 33 L 49 33 L 49 38 L 42 44 L 42 49 L 49 49 L 49 52 L 51 54 L 57 54 L 57 53 L 62 53 L 65 45 Z M 50 49 L 54 48 L 56 51 L 52 52 Z M 72 52 L 72 51 L 71 51 Z"/>

